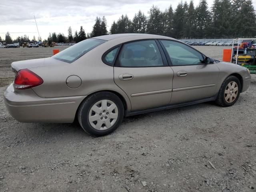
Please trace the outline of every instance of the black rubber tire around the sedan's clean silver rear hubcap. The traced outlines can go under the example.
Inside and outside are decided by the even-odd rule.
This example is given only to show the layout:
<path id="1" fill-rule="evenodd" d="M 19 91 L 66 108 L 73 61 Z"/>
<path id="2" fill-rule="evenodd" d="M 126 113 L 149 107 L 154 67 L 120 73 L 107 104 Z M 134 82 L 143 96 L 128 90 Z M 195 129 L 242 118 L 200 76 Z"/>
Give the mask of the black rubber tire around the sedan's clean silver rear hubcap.
<path id="1" fill-rule="evenodd" d="M 96 130 L 91 126 L 89 122 L 90 109 L 96 102 L 100 100 L 110 100 L 114 102 L 118 108 L 118 118 L 115 124 L 107 130 Z M 104 135 L 110 134 L 120 126 L 123 118 L 124 118 L 123 103 L 118 96 L 116 96 L 111 92 L 98 92 L 96 94 L 89 96 L 86 100 L 82 102 L 78 110 L 78 121 L 80 123 L 80 126 L 84 129 L 85 132 L 93 136 L 104 136 Z"/>

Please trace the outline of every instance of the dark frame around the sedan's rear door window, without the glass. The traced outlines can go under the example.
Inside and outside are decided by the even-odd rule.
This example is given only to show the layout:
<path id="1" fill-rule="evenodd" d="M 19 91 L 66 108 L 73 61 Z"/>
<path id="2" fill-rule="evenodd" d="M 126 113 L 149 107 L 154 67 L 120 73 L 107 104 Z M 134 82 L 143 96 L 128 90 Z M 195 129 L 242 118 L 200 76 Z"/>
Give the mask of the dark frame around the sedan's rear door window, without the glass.
<path id="1" fill-rule="evenodd" d="M 120 53 L 122 51 L 122 48 L 124 47 L 125 44 L 128 44 L 128 43 L 132 43 L 132 42 L 140 42 L 140 41 L 147 41 L 147 40 L 153 40 L 156 42 L 156 45 L 159 49 L 159 52 L 161 54 L 161 57 L 162 57 L 162 62 L 163 62 L 163 66 L 120 66 L 120 62 L 119 62 L 119 56 L 120 56 Z M 123 42 L 122 45 L 120 46 L 119 50 L 118 50 L 118 54 L 117 54 L 117 57 L 116 57 L 116 60 L 115 60 L 115 63 L 114 63 L 114 67 L 122 67 L 122 68 L 148 68 L 148 67 L 168 67 L 168 61 L 166 59 L 166 56 L 164 54 L 164 50 L 162 49 L 162 47 L 160 46 L 160 44 L 158 43 L 158 40 L 157 39 L 154 39 L 154 38 L 148 38 L 148 39 L 137 39 L 137 40 L 131 40 L 131 41 L 127 41 L 127 42 Z"/>

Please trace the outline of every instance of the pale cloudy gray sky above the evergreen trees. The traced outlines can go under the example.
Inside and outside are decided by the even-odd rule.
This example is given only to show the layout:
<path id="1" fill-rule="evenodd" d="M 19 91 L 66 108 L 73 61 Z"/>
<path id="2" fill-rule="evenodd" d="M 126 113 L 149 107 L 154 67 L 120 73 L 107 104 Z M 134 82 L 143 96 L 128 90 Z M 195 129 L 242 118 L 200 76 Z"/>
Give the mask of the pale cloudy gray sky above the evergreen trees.
<path id="1" fill-rule="evenodd" d="M 180 0 L 0 0 L 0 36 L 4 38 L 7 31 L 12 38 L 28 35 L 38 37 L 34 15 L 38 30 L 42 38 L 47 38 L 49 32 L 67 35 L 71 26 L 74 34 L 82 25 L 85 32 L 91 32 L 96 16 L 105 16 L 110 28 L 114 20 L 122 14 L 130 19 L 138 10 L 148 15 L 148 10 L 154 4 L 161 10 L 170 4 L 175 9 Z M 184 0 L 183 0 L 184 2 Z M 188 0 L 189 2 L 189 0 Z M 199 0 L 194 0 L 194 6 Z M 208 6 L 213 0 L 208 0 Z M 256 4 L 256 0 L 254 0 Z"/>

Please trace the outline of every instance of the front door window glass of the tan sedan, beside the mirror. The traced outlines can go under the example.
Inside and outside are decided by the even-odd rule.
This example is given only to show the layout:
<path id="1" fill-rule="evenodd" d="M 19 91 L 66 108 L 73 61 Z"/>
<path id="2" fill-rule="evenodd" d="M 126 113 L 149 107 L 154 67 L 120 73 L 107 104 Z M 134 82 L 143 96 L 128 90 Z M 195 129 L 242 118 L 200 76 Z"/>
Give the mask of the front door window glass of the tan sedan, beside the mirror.
<path id="1" fill-rule="evenodd" d="M 172 65 L 198 65 L 204 63 L 202 54 L 190 46 L 183 43 L 161 40 L 164 45 Z"/>

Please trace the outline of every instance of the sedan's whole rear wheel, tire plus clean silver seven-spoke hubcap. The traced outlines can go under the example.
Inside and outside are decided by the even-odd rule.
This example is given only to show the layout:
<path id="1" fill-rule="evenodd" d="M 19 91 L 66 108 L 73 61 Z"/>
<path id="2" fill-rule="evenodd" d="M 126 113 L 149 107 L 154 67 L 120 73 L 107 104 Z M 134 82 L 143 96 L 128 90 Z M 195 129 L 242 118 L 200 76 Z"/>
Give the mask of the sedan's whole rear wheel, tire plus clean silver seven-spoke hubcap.
<path id="1" fill-rule="evenodd" d="M 110 106 L 112 107 L 109 108 Z M 93 136 L 110 134 L 120 126 L 123 118 L 124 105 L 120 98 L 111 92 L 98 92 L 88 96 L 78 108 L 80 126 L 85 132 Z M 92 122 L 94 119 L 95 121 Z"/>

